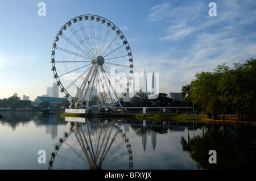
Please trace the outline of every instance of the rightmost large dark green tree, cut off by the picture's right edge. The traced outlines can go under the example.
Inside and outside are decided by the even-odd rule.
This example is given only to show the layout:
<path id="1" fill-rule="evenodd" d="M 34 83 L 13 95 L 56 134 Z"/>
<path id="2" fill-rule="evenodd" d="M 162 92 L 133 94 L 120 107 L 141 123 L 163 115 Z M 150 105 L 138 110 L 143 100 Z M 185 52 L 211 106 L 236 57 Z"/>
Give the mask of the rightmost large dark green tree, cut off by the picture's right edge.
<path id="1" fill-rule="evenodd" d="M 224 71 L 218 84 L 222 104 L 236 111 L 238 119 L 245 116 L 256 119 L 256 60 L 250 58 L 244 64 L 234 64 L 234 68 Z"/>

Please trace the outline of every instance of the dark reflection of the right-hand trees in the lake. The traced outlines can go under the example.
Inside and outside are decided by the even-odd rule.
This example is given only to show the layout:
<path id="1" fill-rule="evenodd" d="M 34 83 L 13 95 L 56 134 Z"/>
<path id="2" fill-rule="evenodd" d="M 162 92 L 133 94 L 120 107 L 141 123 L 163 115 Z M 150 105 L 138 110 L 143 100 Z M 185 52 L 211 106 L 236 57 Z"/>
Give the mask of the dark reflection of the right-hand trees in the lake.
<path id="1" fill-rule="evenodd" d="M 255 127 L 207 124 L 203 136 L 181 136 L 180 143 L 183 150 L 198 163 L 199 169 L 256 168 Z M 209 150 L 216 150 L 216 164 L 208 162 Z"/>

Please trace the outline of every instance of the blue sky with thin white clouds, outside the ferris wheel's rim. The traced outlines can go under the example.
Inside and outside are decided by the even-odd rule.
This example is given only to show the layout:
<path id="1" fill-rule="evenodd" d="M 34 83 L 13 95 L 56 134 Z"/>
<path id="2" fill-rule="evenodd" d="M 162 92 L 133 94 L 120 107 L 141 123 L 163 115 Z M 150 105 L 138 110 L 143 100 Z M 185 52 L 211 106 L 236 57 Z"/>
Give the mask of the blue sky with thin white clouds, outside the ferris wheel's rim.
<path id="1" fill-rule="evenodd" d="M 256 57 L 256 1 L 0 0 L 0 99 L 46 94 L 55 81 L 53 39 L 85 14 L 113 22 L 129 42 L 134 72 L 159 73 L 159 92 L 166 94 L 180 92 L 196 73 Z"/>

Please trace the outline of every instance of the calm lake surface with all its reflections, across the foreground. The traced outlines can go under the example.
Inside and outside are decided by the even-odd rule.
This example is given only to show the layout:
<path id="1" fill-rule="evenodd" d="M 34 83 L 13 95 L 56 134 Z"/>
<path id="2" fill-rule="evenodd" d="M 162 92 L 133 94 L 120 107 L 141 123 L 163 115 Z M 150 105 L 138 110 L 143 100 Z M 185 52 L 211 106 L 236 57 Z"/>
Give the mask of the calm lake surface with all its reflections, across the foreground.
<path id="1" fill-rule="evenodd" d="M 0 169 L 255 169 L 256 127 L 2 113 Z M 209 154 L 215 150 L 216 154 Z M 42 152 L 43 151 L 43 152 Z M 53 154 L 54 153 L 54 154 Z M 216 163 L 209 163 L 216 160 Z M 45 163 L 44 163 L 45 162 Z"/>

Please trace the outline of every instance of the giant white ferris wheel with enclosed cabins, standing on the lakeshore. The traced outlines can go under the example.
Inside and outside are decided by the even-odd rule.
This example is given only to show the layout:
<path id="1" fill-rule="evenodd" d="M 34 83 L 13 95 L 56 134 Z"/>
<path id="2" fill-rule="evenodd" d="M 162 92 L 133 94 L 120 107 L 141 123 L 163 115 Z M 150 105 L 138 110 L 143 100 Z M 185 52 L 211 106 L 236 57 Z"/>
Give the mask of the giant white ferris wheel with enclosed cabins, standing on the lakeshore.
<path id="1" fill-rule="evenodd" d="M 117 105 L 133 78 L 133 57 L 123 33 L 108 19 L 81 15 L 57 32 L 51 70 L 69 108 Z M 118 105 L 119 104 L 119 105 Z"/>

